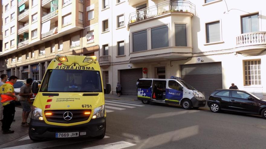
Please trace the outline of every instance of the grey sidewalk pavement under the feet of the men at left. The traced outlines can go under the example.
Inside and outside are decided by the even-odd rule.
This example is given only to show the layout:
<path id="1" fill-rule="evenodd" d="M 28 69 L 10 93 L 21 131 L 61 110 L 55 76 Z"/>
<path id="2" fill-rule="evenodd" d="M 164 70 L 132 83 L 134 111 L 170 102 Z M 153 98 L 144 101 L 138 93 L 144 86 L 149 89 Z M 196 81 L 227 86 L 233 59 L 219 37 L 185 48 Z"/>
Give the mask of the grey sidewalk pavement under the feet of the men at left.
<path id="1" fill-rule="evenodd" d="M 21 126 L 21 122 L 22 122 L 22 108 L 19 108 L 19 107 L 16 107 L 15 108 L 16 112 L 15 112 L 15 122 L 12 122 L 11 124 L 11 128 L 10 130 L 15 130 L 14 133 L 11 133 L 11 134 L 5 134 L 3 135 L 2 134 L 2 131 L 0 132 L 0 136 L 1 136 L 1 139 L 0 139 L 0 145 L 2 144 L 5 144 L 6 142 L 9 142 L 9 141 L 12 141 L 12 140 L 15 140 L 17 138 L 20 138 L 24 135 L 27 135 L 28 134 L 28 127 L 23 127 Z M 29 116 L 30 117 L 30 116 Z M 28 118 L 28 123 L 30 122 L 30 119 Z M 0 124 L 0 126 L 2 126 L 2 124 Z"/>

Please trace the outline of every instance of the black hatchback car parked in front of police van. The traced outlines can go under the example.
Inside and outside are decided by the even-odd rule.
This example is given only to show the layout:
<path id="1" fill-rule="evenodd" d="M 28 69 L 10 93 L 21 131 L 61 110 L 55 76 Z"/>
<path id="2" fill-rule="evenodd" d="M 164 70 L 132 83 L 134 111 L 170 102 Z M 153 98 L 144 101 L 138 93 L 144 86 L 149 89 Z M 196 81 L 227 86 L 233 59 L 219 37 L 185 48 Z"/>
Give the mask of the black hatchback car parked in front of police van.
<path id="1" fill-rule="evenodd" d="M 217 89 L 207 101 L 212 112 L 220 110 L 261 115 L 266 119 L 266 101 L 249 92 L 235 89 Z"/>

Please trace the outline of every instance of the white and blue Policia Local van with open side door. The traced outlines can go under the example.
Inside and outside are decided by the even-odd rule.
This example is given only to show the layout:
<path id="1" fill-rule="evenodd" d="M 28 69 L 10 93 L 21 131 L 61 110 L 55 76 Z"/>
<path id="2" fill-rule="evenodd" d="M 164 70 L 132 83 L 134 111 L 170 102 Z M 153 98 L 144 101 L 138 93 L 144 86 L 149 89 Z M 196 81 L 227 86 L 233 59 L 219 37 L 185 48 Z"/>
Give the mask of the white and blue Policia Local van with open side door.
<path id="1" fill-rule="evenodd" d="M 204 107 L 204 95 L 180 77 L 170 79 L 138 79 L 138 99 L 144 104 L 150 102 L 179 104 L 184 109 Z"/>

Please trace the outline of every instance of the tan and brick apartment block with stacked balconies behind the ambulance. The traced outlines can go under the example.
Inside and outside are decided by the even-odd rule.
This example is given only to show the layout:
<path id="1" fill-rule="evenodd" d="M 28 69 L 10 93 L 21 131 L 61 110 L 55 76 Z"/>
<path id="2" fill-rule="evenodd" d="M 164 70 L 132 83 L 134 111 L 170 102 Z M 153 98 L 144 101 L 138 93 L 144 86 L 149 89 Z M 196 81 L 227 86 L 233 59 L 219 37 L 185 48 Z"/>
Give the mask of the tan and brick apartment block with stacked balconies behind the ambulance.
<path id="1" fill-rule="evenodd" d="M 97 20 L 84 17 L 86 5 L 90 3 L 85 0 L 11 0 L 3 4 L 0 73 L 41 80 L 56 54 L 97 54 L 98 38 L 84 40 L 85 27 Z"/>

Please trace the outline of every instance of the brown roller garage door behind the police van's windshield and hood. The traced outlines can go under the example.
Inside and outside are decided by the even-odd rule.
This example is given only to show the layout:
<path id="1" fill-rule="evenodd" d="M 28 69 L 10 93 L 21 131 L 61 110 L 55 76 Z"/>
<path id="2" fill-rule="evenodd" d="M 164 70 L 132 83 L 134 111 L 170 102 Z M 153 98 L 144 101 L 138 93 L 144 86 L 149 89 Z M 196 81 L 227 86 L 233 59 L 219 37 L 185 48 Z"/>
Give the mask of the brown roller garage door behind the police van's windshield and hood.
<path id="1" fill-rule="evenodd" d="M 222 88 L 222 63 L 181 65 L 181 77 L 208 99 L 215 89 Z"/>

